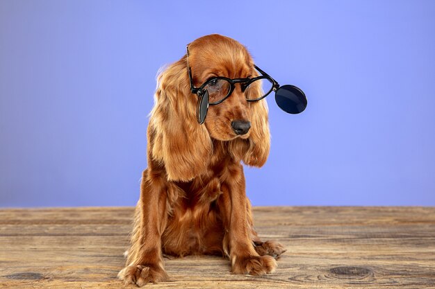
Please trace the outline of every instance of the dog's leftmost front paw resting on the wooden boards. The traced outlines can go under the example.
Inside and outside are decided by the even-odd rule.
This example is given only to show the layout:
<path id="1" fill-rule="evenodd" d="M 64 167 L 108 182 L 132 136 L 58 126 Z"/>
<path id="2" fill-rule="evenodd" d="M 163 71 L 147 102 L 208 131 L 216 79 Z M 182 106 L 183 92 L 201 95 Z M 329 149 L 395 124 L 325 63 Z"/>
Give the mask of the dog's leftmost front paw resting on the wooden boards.
<path id="1" fill-rule="evenodd" d="M 158 283 L 167 280 L 167 274 L 158 265 L 130 265 L 118 273 L 118 278 L 125 284 L 136 284 L 139 287 L 147 283 Z"/>

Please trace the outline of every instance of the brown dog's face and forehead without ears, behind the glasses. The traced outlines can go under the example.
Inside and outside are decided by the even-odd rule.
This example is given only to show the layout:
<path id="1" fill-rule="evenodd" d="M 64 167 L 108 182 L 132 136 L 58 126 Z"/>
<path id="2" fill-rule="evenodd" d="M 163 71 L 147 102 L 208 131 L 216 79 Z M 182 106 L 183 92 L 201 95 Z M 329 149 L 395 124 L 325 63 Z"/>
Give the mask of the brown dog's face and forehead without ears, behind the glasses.
<path id="1" fill-rule="evenodd" d="M 258 76 L 254 69 L 252 57 L 245 46 L 221 35 L 208 35 L 195 40 L 189 46 L 189 64 L 195 87 L 213 77 L 253 78 Z M 231 95 L 222 103 L 210 105 L 205 119 L 205 126 L 213 139 L 229 141 L 240 137 L 249 138 L 251 123 L 255 117 L 251 106 L 246 100 L 246 94 L 255 93 L 261 89 L 253 87 L 242 91 L 240 83 L 235 84 Z M 210 103 L 223 96 L 210 93 Z"/>

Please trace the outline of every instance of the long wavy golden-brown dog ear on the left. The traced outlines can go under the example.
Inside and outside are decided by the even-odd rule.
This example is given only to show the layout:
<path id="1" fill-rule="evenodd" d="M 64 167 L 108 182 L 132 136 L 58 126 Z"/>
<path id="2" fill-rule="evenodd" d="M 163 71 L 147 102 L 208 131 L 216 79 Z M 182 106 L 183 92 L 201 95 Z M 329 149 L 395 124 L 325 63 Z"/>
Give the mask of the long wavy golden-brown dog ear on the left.
<path id="1" fill-rule="evenodd" d="M 206 171 L 213 150 L 205 125 L 197 122 L 197 98 L 189 83 L 185 56 L 158 76 L 149 119 L 154 140 L 148 155 L 165 166 L 171 181 L 188 181 Z"/>

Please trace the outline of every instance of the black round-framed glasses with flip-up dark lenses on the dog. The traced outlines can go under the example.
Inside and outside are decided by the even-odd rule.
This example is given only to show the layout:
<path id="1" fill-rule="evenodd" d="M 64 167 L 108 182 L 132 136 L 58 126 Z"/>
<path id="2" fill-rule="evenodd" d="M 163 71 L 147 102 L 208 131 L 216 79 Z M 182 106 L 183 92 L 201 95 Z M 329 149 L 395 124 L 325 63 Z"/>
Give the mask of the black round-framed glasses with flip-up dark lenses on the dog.
<path id="1" fill-rule="evenodd" d="M 190 91 L 198 96 L 197 102 L 197 121 L 204 123 L 209 105 L 218 105 L 227 99 L 234 91 L 236 83 L 240 83 L 242 91 L 248 102 L 261 100 L 268 96 L 272 91 L 275 92 L 275 101 L 281 110 L 289 114 L 299 114 L 306 108 L 307 100 L 304 91 L 294 85 L 280 86 L 268 73 L 254 65 L 254 68 L 261 73 L 255 78 L 226 78 L 217 76 L 209 78 L 200 87 L 193 85 L 192 70 L 189 67 L 189 49 L 186 47 L 186 60 L 188 66 Z M 254 85 L 261 85 L 263 93 L 254 94 L 249 88 Z"/>

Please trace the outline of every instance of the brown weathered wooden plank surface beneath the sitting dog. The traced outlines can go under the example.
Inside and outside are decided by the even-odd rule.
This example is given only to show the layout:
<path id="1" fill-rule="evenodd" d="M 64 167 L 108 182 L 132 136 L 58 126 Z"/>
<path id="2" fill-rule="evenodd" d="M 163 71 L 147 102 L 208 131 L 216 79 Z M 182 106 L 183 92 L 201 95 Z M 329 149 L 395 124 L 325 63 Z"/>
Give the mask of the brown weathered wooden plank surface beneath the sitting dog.
<path id="1" fill-rule="evenodd" d="M 0 288 L 124 288 L 133 208 L 1 209 Z M 256 207 L 261 238 L 287 252 L 265 277 L 229 261 L 165 260 L 149 288 L 435 288 L 435 208 Z M 127 286 L 135 288 L 135 286 Z"/>

